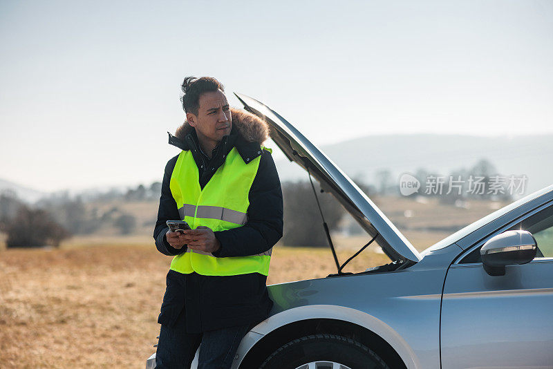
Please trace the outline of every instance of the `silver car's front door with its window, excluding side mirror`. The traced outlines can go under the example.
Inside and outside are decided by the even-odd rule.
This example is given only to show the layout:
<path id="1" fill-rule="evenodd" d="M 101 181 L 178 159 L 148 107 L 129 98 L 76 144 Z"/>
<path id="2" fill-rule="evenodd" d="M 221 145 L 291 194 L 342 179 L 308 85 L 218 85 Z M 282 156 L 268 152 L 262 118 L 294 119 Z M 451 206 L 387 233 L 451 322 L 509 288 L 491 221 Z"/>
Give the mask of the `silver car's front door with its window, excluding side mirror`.
<path id="1" fill-rule="evenodd" d="M 508 229 L 536 238 L 525 265 L 489 276 L 480 247 Z M 442 368 L 553 368 L 553 206 L 505 225 L 469 248 L 447 272 L 440 317 Z"/>

